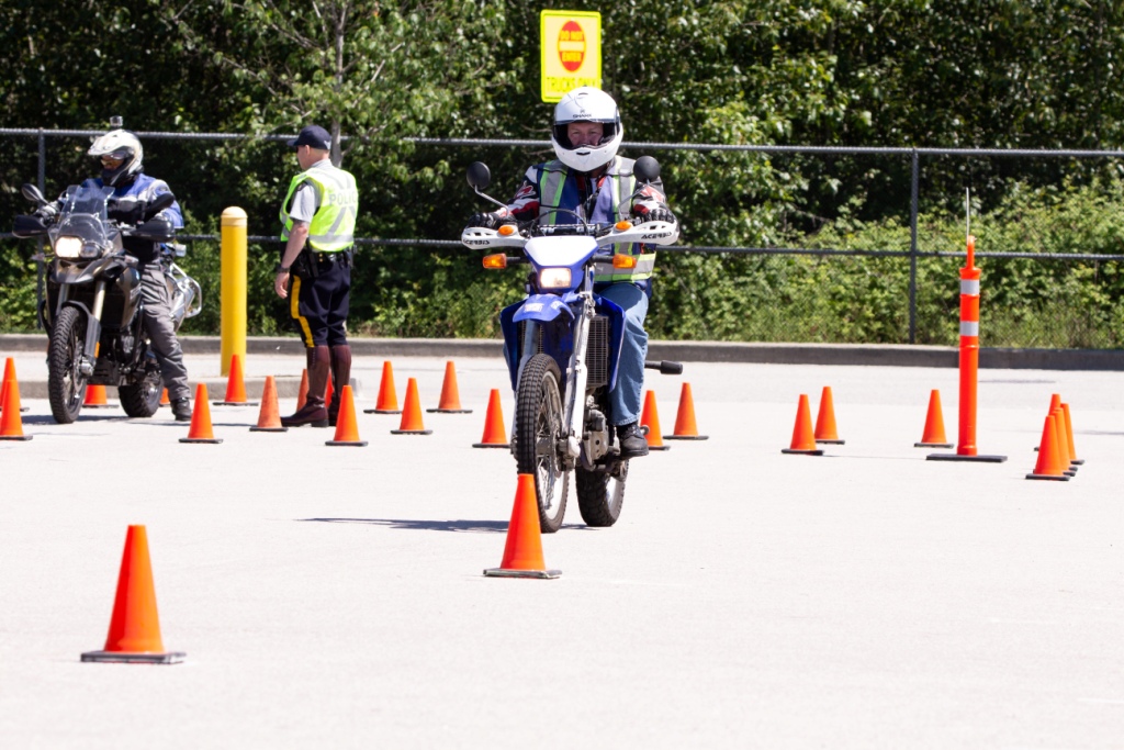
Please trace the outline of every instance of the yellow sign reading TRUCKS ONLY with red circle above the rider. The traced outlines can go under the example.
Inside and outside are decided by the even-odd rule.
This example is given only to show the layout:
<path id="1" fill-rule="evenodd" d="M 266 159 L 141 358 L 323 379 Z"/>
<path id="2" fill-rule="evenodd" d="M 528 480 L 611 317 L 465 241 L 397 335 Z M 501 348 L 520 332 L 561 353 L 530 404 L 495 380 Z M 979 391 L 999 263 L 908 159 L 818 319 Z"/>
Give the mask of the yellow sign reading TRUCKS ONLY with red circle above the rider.
<path id="1" fill-rule="evenodd" d="M 543 101 L 579 85 L 601 88 L 601 13 L 544 10 L 540 29 Z"/>

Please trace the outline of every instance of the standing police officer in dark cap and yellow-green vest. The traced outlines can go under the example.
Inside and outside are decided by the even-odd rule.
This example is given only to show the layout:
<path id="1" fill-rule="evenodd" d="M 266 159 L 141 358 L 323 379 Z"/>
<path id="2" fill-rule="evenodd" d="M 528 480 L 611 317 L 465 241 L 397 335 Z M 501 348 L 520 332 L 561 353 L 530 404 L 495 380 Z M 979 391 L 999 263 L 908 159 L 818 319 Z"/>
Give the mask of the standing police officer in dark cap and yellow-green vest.
<path id="1" fill-rule="evenodd" d="M 308 397 L 281 424 L 327 427 L 336 424 L 343 387 L 351 382 L 346 324 L 359 191 L 355 178 L 332 164 L 327 130 L 309 125 L 288 144 L 302 171 L 281 206 L 287 242 L 273 290 L 289 299 L 289 315 L 305 342 Z M 334 392 L 325 408 L 329 370 Z"/>

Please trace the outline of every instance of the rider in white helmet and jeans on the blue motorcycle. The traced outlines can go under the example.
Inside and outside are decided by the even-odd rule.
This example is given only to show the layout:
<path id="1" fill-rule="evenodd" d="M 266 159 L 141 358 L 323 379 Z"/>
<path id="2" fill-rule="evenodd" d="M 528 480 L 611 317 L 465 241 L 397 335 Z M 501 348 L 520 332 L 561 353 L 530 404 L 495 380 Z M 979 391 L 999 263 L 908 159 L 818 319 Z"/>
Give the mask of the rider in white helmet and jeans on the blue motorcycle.
<path id="1" fill-rule="evenodd" d="M 506 209 L 477 214 L 470 226 L 495 228 L 504 222 L 525 222 L 540 216 L 551 224 L 579 220 L 556 209 L 574 211 L 598 224 L 632 217 L 674 222 L 660 180 L 637 189 L 633 160 L 617 156 L 623 138 L 624 127 L 613 97 L 591 87 L 570 91 L 554 108 L 551 143 L 558 160 L 528 169 Z M 609 421 L 617 427 L 620 458 L 632 459 L 647 455 L 647 441 L 636 423 L 647 354 L 644 317 L 652 296 L 655 252 L 637 245 L 618 245 L 615 252 L 636 255 L 636 266 L 615 271 L 611 263 L 598 264 L 593 269 L 593 290 L 625 311 L 617 382 L 609 394 Z"/>

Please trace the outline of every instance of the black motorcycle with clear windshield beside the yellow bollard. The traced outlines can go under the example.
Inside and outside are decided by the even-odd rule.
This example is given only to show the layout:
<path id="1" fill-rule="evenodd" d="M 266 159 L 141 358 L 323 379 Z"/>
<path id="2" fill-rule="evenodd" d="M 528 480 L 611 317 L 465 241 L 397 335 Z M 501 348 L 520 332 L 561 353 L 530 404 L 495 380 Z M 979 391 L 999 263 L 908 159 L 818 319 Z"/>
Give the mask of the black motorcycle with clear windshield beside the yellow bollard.
<path id="1" fill-rule="evenodd" d="M 21 191 L 49 215 L 51 205 L 35 186 L 25 184 Z M 163 381 L 144 328 L 138 261 L 125 252 L 123 238 L 170 243 L 174 229 L 167 222 L 151 219 L 175 197 L 158 196 L 144 220 L 133 227 L 109 218 L 112 195 L 112 188 L 92 182 L 71 186 L 57 216 L 44 218 L 40 210 L 36 216 L 17 216 L 15 222 L 17 237 L 49 238 L 51 256 L 38 256 L 51 263 L 38 313 L 49 337 L 51 414 L 60 424 L 78 418 L 89 385 L 116 386 L 121 408 L 130 417 L 151 417 L 160 408 Z M 164 261 L 164 275 L 179 328 L 184 317 L 201 308 L 199 284 L 174 262 Z"/>

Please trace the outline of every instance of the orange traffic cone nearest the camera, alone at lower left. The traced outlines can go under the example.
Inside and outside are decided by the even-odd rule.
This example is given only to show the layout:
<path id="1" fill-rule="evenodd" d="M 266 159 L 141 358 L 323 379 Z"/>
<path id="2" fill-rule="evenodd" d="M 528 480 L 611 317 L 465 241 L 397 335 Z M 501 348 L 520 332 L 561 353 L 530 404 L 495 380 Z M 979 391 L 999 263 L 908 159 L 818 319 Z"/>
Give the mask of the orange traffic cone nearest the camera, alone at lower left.
<path id="1" fill-rule="evenodd" d="M 148 559 L 148 534 L 144 526 L 129 526 L 106 648 L 87 651 L 82 661 L 175 665 L 185 656 L 182 651 L 164 651 L 156 614 L 156 587 Z"/>

